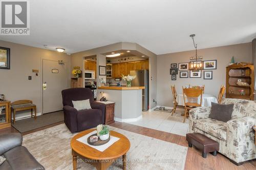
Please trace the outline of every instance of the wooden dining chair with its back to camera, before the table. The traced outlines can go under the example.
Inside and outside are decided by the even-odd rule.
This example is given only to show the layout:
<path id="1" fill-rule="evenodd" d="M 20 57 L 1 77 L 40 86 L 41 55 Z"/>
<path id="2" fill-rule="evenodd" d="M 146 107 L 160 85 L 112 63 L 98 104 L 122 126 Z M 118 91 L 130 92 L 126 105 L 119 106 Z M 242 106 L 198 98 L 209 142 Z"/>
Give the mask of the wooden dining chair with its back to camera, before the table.
<path id="1" fill-rule="evenodd" d="M 189 110 L 193 109 L 195 107 L 201 107 L 202 106 L 202 98 L 203 98 L 203 88 L 197 89 L 197 88 L 183 88 L 183 98 L 184 98 L 184 105 L 185 105 L 185 114 L 184 114 L 184 120 L 187 116 L 189 116 Z M 200 98 L 200 103 L 198 103 Z"/>

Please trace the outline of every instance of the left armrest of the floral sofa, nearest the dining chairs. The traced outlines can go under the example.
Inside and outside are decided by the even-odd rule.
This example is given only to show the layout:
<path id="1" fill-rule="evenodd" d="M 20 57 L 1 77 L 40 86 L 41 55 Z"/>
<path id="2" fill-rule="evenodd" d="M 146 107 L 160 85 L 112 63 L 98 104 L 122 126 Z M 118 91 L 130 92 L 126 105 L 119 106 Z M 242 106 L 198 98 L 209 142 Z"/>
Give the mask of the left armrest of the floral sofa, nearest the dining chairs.
<path id="1" fill-rule="evenodd" d="M 194 132 L 194 121 L 201 118 L 208 118 L 211 107 L 197 107 L 189 110 L 189 133 Z"/>

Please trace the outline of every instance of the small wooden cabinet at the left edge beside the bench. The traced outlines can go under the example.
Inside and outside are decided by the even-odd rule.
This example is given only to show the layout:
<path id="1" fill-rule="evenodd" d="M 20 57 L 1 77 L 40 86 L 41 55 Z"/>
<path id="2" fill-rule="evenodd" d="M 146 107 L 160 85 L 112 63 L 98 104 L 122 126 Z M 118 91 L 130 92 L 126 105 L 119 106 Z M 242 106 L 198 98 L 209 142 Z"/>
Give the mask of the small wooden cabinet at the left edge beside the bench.
<path id="1" fill-rule="evenodd" d="M 11 126 L 11 102 L 0 101 L 0 129 Z"/>

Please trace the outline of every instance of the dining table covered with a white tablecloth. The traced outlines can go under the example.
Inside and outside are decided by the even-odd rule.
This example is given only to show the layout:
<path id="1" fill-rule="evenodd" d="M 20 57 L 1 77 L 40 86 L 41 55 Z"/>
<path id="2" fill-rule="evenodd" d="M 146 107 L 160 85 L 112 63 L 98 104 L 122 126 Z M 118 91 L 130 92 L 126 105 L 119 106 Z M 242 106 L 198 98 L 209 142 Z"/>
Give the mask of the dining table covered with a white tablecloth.
<path id="1" fill-rule="evenodd" d="M 211 106 L 211 102 L 218 103 L 218 100 L 215 95 L 203 94 L 202 96 L 203 96 L 202 106 Z M 177 102 L 179 106 L 185 106 L 183 94 L 177 94 Z M 198 98 L 198 104 L 200 104 L 200 97 Z"/>

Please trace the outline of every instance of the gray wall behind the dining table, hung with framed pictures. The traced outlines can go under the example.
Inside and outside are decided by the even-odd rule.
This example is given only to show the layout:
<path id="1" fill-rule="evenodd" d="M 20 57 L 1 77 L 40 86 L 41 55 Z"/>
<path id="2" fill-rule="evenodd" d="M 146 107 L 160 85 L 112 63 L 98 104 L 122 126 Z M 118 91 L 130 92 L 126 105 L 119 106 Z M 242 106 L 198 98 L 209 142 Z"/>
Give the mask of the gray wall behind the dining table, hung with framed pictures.
<path id="1" fill-rule="evenodd" d="M 195 56 L 195 51 L 157 56 L 157 105 L 173 107 L 170 85 L 175 85 L 177 93 L 182 93 L 184 85 L 204 84 L 205 93 L 218 96 L 220 86 L 226 86 L 226 66 L 230 63 L 232 56 L 235 62 L 251 61 L 251 43 L 205 48 L 198 50 L 198 55 L 203 56 L 203 60 L 217 60 L 217 69 L 212 70 L 212 80 L 204 80 L 202 71 L 202 78 L 179 78 L 178 74 L 177 80 L 172 81 L 169 74 L 170 64 L 188 62 L 191 56 Z"/>

